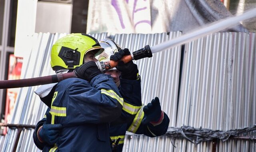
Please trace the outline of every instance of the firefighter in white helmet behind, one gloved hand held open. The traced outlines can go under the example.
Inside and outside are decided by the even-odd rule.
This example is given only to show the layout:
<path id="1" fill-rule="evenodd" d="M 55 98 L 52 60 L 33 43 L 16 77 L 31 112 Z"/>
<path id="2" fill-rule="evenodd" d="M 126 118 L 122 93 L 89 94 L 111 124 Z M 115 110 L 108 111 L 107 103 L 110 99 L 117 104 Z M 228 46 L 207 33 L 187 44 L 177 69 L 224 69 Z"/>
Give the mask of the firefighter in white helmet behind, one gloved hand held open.
<path id="1" fill-rule="evenodd" d="M 122 50 L 114 41 L 103 39 L 100 45 L 104 52 L 98 56 L 100 61 L 119 60 L 124 55 L 130 54 L 128 49 Z M 118 51 L 119 50 L 119 51 Z M 118 69 L 118 70 L 117 70 Z M 140 76 L 138 68 L 132 61 L 124 64 L 119 62 L 116 68 L 106 72 L 114 79 L 114 82 L 124 98 L 122 116 L 110 125 L 110 139 L 113 151 L 122 151 L 124 144 L 124 135 L 127 131 L 136 134 L 145 134 L 154 137 L 166 133 L 169 125 L 168 116 L 162 112 L 159 99 L 156 97 L 147 106 L 142 106 L 140 91 Z M 121 72 L 122 71 L 122 72 Z M 121 123 L 120 120 L 121 119 Z M 42 124 L 38 124 L 42 125 Z M 56 139 L 58 131 L 52 125 L 47 128 L 47 140 Z M 54 143 L 54 141 L 49 141 Z"/>

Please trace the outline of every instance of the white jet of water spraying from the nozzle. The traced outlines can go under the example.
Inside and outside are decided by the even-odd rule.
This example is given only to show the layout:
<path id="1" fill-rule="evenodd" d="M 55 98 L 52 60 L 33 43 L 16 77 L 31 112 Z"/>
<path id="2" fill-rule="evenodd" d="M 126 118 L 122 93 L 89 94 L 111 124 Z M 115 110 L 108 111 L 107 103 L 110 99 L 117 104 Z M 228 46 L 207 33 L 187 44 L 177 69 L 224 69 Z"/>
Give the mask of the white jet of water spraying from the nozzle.
<path id="1" fill-rule="evenodd" d="M 227 18 L 224 20 L 214 22 L 213 24 L 206 25 L 205 27 L 202 27 L 198 30 L 194 30 L 192 32 L 189 32 L 187 34 L 184 34 L 182 36 L 174 38 L 172 40 L 152 46 L 152 47 L 150 47 L 150 49 L 151 49 L 152 53 L 160 52 L 160 51 L 166 50 L 168 48 L 172 48 L 172 47 L 178 46 L 180 44 L 184 44 L 186 42 L 190 42 L 192 40 L 201 38 L 208 34 L 224 30 L 228 27 L 238 25 L 240 21 L 247 20 L 247 19 L 253 18 L 255 16 L 256 16 L 256 8 L 249 10 L 247 12 L 244 12 L 241 15 L 233 16 L 233 17 L 230 17 L 230 18 Z"/>

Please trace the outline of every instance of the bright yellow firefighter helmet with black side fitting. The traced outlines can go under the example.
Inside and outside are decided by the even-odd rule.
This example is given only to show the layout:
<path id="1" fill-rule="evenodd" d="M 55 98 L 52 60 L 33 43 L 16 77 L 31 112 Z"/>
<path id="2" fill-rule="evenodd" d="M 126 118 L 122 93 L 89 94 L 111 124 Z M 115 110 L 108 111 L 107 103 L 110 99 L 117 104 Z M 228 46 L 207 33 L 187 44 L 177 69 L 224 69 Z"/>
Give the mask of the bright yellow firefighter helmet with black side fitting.
<path id="1" fill-rule="evenodd" d="M 84 62 L 84 55 L 93 51 L 98 56 L 104 51 L 94 37 L 74 33 L 57 40 L 51 50 L 51 66 L 54 71 L 74 69 Z"/>

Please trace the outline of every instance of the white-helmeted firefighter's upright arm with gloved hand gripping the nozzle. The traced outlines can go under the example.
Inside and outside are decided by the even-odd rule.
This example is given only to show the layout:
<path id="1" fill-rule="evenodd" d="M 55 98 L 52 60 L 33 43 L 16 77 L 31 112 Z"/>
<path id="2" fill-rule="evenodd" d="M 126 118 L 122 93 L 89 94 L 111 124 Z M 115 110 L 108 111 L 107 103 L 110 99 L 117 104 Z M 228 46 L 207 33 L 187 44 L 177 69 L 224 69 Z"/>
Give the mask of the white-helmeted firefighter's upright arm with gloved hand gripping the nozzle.
<path id="1" fill-rule="evenodd" d="M 129 55 L 128 48 L 124 50 L 120 49 L 110 56 L 110 60 L 119 61 L 116 69 L 121 72 L 120 78 L 120 94 L 124 98 L 124 105 L 122 109 L 121 117 L 119 118 L 121 123 L 128 123 L 133 120 L 135 115 L 140 110 L 141 103 L 141 81 L 138 74 L 138 66 L 132 61 L 124 63 L 120 59 L 124 55 Z"/>

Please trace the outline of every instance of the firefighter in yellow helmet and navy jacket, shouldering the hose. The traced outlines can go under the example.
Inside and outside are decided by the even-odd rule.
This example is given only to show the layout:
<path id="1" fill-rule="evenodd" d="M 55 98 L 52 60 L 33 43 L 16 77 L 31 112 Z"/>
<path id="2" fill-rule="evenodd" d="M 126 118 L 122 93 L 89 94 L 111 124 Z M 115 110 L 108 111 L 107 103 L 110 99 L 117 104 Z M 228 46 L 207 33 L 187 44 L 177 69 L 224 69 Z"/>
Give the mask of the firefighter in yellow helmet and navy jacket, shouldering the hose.
<path id="1" fill-rule="evenodd" d="M 86 34 L 69 34 L 52 46 L 51 66 L 56 72 L 75 70 L 79 78 L 56 84 L 49 96 L 44 126 L 38 126 L 35 143 L 44 143 L 44 130 L 54 126 L 58 139 L 44 143 L 43 151 L 111 151 L 109 122 L 120 117 L 123 99 L 111 76 L 102 74 L 95 61 L 104 49 Z"/>

